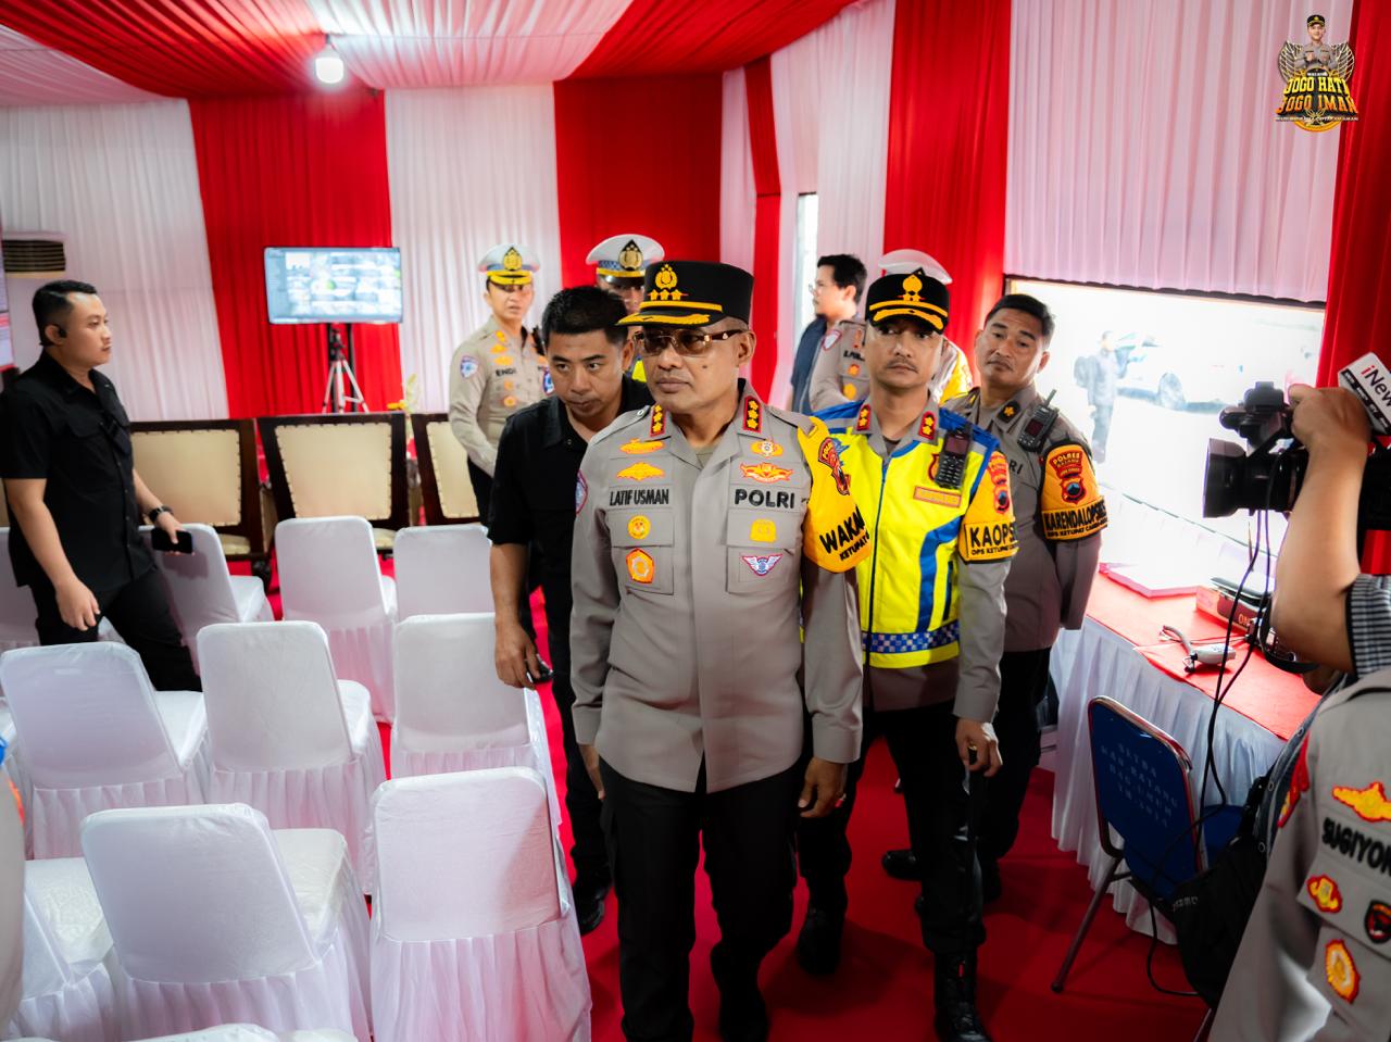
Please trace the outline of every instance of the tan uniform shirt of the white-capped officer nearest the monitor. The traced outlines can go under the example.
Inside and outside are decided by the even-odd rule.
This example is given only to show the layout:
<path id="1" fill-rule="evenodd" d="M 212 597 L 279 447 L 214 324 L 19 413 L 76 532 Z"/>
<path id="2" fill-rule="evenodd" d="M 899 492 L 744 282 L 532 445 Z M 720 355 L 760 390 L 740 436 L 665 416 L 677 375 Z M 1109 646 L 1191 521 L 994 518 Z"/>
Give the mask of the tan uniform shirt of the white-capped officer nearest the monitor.
<path id="1" fill-rule="evenodd" d="M 519 342 L 490 317 L 449 360 L 449 430 L 490 477 L 508 417 L 551 394 L 551 371 L 530 339 Z"/>

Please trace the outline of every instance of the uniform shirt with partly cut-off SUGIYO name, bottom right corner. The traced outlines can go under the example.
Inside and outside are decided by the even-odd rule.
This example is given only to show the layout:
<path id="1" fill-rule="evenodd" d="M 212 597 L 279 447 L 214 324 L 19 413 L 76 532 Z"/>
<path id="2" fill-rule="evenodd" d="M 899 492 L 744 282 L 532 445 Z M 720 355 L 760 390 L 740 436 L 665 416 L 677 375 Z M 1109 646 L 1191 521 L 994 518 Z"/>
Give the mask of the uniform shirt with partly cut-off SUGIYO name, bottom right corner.
<path id="1" fill-rule="evenodd" d="M 1324 698 L 1213 1042 L 1391 1038 L 1391 669 Z"/>

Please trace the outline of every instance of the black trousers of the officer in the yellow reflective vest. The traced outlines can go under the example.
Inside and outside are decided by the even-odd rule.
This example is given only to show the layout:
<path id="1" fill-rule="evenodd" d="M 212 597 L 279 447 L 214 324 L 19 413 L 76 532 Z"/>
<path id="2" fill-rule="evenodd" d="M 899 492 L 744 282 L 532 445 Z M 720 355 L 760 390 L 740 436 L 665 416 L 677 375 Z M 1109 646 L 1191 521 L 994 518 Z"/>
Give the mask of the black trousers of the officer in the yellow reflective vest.
<path id="1" fill-rule="evenodd" d="M 811 904 L 843 913 L 850 840 L 846 828 L 855 807 L 865 755 L 879 735 L 903 779 L 908 840 L 926 867 L 922 878 L 922 943 L 939 956 L 965 956 L 985 940 L 975 829 L 985 789 L 961 764 L 951 703 L 918 710 L 865 710 L 860 760 L 850 765 L 846 801 L 825 818 L 798 822 L 801 878 Z"/>

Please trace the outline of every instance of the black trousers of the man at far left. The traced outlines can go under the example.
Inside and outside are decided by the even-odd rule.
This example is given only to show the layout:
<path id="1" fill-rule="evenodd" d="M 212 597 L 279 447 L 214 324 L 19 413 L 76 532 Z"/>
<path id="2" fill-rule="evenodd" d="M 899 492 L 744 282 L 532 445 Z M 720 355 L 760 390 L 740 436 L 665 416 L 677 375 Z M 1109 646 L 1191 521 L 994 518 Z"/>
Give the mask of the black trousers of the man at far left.
<path id="1" fill-rule="evenodd" d="M 96 626 L 86 630 L 68 626 L 58 614 L 58 595 L 47 583 L 33 583 L 35 626 L 40 644 L 88 644 L 96 640 Z M 170 615 L 168 595 L 157 569 L 150 569 L 115 590 L 92 591 L 102 616 L 111 620 L 121 640 L 145 662 L 145 672 L 157 691 L 202 691 L 193 659 Z M 97 622 L 102 620 L 97 618 Z"/>

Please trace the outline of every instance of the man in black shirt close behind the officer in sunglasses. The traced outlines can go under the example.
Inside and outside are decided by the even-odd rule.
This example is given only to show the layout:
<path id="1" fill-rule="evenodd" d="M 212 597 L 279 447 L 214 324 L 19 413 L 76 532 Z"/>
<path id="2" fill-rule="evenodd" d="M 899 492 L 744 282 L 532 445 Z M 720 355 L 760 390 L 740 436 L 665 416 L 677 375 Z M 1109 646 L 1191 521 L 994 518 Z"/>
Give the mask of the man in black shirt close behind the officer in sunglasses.
<path id="1" fill-rule="evenodd" d="M 570 540 L 574 487 L 590 438 L 619 413 L 650 405 L 647 385 L 626 376 L 633 348 L 618 324 L 627 314 L 606 289 L 562 289 L 545 307 L 541 337 L 555 396 L 513 415 L 498 442 L 488 536 L 492 540 L 492 602 L 497 612 L 498 678 L 534 687 L 541 662 L 517 622 L 527 575 L 527 547 L 541 550 L 541 590 L 551 632 L 551 693 L 565 733 L 566 793 L 574 846 L 574 907 L 580 932 L 604 920 L 611 875 L 600 828 L 600 797 L 574 742 L 570 707 Z"/>

